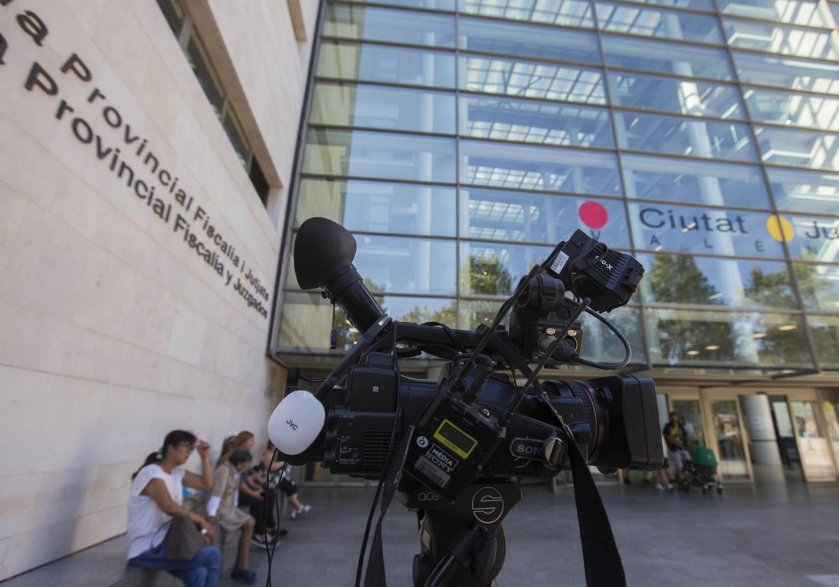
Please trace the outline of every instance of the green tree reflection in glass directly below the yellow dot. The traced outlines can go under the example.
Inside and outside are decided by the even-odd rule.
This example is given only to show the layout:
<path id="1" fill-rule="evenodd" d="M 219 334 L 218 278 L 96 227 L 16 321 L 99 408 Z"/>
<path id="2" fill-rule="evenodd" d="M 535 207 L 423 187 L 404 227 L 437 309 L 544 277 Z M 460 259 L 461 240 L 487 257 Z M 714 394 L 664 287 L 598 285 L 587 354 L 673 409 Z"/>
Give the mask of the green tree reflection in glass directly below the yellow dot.
<path id="1" fill-rule="evenodd" d="M 789 287 L 789 272 L 786 269 L 774 273 L 763 273 L 761 268 L 752 269 L 744 293 L 759 305 L 773 308 L 796 309 L 792 289 Z M 779 330 L 794 327 L 792 330 Z M 761 362 L 784 365 L 809 365 L 810 351 L 800 329 L 800 319 L 792 314 L 758 314 L 753 325 L 758 334 L 756 340 Z"/>

